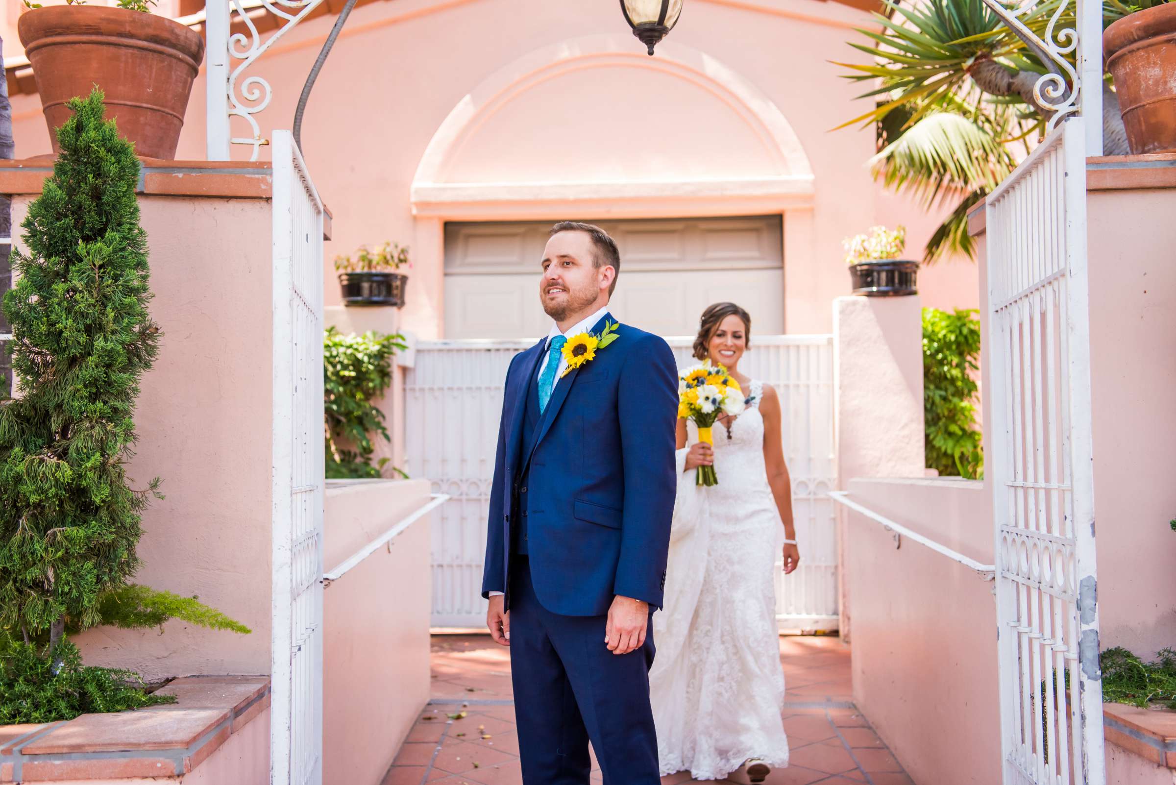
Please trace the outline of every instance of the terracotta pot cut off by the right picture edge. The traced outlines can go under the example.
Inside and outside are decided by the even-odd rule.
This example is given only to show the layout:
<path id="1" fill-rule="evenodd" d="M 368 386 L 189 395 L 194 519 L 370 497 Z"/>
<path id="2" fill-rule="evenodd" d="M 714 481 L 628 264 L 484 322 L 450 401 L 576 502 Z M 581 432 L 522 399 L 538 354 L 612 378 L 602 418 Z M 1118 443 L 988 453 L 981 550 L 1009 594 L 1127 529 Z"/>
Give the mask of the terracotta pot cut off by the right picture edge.
<path id="1" fill-rule="evenodd" d="M 1136 155 L 1176 153 L 1176 2 L 1123 16 L 1103 33 L 1127 143 Z"/>

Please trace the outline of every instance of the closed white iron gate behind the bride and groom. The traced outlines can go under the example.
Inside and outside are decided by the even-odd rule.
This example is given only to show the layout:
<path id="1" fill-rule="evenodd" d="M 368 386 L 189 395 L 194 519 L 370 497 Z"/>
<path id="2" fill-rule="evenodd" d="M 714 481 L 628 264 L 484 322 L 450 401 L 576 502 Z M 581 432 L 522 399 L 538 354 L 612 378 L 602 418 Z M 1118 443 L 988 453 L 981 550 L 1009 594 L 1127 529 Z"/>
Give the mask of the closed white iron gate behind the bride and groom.
<path id="1" fill-rule="evenodd" d="M 679 365 L 693 338 L 668 338 Z M 486 523 L 502 384 L 526 341 L 427 341 L 405 381 L 405 468 L 452 499 L 433 518 L 433 624 L 482 626 Z M 833 337 L 760 336 L 741 370 L 780 392 L 784 458 L 802 562 L 777 572 L 781 629 L 837 626 Z"/>

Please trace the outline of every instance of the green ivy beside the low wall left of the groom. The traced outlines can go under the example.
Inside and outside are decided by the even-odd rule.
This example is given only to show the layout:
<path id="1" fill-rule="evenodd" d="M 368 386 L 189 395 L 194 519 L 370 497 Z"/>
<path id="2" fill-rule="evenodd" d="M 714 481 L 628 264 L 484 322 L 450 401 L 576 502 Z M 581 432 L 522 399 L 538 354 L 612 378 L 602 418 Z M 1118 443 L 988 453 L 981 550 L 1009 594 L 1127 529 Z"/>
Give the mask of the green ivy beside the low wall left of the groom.
<path id="1" fill-rule="evenodd" d="M 379 477 L 373 437 L 392 441 L 375 402 L 392 384 L 392 357 L 407 349 L 401 335 L 345 335 L 327 328 L 322 341 L 327 478 Z M 394 469 L 402 476 L 403 471 Z"/>

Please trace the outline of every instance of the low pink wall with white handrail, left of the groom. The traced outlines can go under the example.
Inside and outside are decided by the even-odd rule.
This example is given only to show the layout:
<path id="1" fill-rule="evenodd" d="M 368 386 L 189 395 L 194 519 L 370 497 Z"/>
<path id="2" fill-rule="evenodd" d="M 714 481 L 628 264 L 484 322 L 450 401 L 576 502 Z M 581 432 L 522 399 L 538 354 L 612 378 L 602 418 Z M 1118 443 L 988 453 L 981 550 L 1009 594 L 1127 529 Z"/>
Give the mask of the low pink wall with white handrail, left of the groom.
<path id="1" fill-rule="evenodd" d="M 326 564 L 352 553 L 429 499 L 427 479 L 327 489 Z M 428 516 L 323 596 L 323 780 L 379 783 L 429 698 Z"/>

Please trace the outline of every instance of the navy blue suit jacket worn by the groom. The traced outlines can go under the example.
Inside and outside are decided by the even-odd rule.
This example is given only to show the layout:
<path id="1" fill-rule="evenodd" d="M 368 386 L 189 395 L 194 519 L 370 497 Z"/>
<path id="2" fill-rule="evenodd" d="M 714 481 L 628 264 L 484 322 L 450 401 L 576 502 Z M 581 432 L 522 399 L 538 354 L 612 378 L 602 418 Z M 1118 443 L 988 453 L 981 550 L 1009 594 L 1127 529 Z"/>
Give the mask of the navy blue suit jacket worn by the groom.
<path id="1" fill-rule="evenodd" d="M 600 334 L 601 320 L 593 333 Z M 510 606 L 515 482 L 527 476 L 532 582 L 563 616 L 600 616 L 613 597 L 661 608 L 674 512 L 677 368 L 662 338 L 621 324 L 617 338 L 556 382 L 530 444 L 527 387 L 547 340 L 510 361 L 499 427 L 482 596 Z"/>

